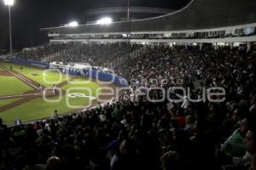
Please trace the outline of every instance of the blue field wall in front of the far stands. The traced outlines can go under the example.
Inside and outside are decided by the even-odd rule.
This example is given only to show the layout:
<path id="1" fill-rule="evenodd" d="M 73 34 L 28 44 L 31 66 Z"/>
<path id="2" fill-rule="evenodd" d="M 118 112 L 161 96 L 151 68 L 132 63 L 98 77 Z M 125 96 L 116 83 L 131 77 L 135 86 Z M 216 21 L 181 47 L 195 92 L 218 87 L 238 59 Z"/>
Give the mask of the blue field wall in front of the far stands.
<path id="1" fill-rule="evenodd" d="M 31 61 L 26 59 L 10 59 L 11 62 L 18 64 L 18 65 L 29 65 L 29 66 L 36 66 L 44 69 L 49 69 L 49 63 L 39 62 L 39 61 Z M 78 75 L 77 71 L 68 71 L 68 74 L 71 75 Z M 128 86 L 128 82 L 125 78 L 113 75 L 108 72 L 103 72 L 100 70 L 95 69 L 83 69 L 81 75 L 84 77 L 91 77 L 94 79 L 106 81 L 106 82 L 113 82 L 117 86 L 126 87 Z"/>

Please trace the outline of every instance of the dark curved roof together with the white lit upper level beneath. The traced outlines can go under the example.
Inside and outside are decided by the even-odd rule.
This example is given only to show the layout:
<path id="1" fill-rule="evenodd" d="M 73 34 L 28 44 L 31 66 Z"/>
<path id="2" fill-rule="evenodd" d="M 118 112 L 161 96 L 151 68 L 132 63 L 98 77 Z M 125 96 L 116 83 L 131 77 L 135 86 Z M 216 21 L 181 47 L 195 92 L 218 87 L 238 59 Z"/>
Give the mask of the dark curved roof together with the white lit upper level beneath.
<path id="1" fill-rule="evenodd" d="M 255 4 L 192 0 L 185 7 L 154 18 L 77 27 L 42 28 L 50 42 L 203 43 L 255 42 Z M 211 11 L 211 12 L 209 12 Z"/>

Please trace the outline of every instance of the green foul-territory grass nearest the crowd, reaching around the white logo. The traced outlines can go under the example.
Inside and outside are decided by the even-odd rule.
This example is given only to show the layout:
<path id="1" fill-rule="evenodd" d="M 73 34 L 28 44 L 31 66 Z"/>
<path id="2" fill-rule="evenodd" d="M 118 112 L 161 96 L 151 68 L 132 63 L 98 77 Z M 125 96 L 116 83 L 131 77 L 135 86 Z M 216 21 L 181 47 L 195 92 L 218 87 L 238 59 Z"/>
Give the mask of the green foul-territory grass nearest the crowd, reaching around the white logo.
<path id="1" fill-rule="evenodd" d="M 79 79 L 78 81 L 75 80 L 74 82 L 80 82 L 82 79 Z M 96 96 L 96 90 L 99 87 L 96 82 L 89 82 L 87 84 L 67 84 L 62 89 L 68 89 L 68 88 L 90 88 L 92 96 Z M 72 93 L 83 93 L 88 95 L 89 93 L 86 90 L 83 89 L 72 89 L 69 91 L 70 94 Z M 100 92 L 100 91 L 99 91 Z M 54 101 L 56 98 L 49 98 L 49 100 Z M 69 105 L 72 105 L 73 107 L 69 107 L 67 105 L 67 102 Z M 10 109 L 8 111 L 4 111 L 0 114 L 2 116 L 4 123 L 10 125 L 15 122 L 17 118 L 20 118 L 21 121 L 27 122 L 32 121 L 36 119 L 40 119 L 42 117 L 48 117 L 51 116 L 53 111 L 57 110 L 58 113 L 61 115 L 61 113 L 67 113 L 72 112 L 74 109 L 83 108 L 85 105 L 89 104 L 88 98 L 69 98 L 68 95 L 63 95 L 61 100 L 58 102 L 46 102 L 44 99 L 33 99 L 32 101 L 25 103 L 23 105 L 16 106 L 13 109 Z"/>

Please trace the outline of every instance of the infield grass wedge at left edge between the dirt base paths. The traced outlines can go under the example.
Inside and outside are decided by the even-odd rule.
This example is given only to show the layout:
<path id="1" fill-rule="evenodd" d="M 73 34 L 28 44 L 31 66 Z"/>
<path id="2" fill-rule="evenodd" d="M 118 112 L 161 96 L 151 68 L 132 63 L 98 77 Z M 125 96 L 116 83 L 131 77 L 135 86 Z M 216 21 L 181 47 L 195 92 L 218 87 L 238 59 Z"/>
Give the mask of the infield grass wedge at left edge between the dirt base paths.
<path id="1" fill-rule="evenodd" d="M 0 95 L 15 95 L 23 94 L 26 91 L 32 90 L 26 83 L 20 81 L 16 77 L 0 76 Z"/>

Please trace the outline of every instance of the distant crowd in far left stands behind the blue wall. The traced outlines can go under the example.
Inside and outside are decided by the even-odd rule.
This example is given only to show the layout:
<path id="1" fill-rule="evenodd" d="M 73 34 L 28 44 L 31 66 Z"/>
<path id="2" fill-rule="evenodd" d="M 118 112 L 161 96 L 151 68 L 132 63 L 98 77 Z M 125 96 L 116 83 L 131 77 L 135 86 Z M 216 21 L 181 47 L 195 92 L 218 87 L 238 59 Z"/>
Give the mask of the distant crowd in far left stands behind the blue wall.
<path id="1" fill-rule="evenodd" d="M 52 43 L 39 48 L 23 49 L 18 57 L 47 62 L 79 62 L 108 67 L 113 59 L 129 54 L 137 47 L 137 45 L 131 47 L 128 43 Z"/>

